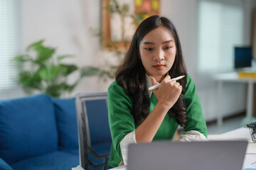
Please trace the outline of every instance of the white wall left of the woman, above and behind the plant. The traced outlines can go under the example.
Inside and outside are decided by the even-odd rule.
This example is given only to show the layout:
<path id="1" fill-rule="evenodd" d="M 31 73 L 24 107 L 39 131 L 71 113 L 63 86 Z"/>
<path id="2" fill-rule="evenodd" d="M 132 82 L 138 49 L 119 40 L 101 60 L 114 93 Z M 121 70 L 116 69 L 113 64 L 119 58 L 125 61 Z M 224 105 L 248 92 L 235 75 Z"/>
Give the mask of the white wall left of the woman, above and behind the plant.
<path id="1" fill-rule="evenodd" d="M 100 42 L 90 29 L 100 29 L 100 1 L 90 0 L 23 0 L 23 47 L 45 39 L 46 45 L 57 47 L 58 55 L 75 55 L 67 62 L 79 67 L 97 65 Z M 74 74 L 70 82 L 78 78 Z M 107 90 L 98 79 L 85 78 L 72 94 Z"/>

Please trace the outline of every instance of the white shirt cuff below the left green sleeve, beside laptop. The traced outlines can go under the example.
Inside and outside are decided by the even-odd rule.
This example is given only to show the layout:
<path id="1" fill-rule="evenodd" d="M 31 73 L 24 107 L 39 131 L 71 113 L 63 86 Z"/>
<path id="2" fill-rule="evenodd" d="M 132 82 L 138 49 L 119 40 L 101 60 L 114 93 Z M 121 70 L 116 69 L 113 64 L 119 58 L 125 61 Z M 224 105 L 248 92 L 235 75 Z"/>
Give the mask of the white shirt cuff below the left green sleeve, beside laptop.
<path id="1" fill-rule="evenodd" d="M 122 159 L 125 165 L 127 165 L 128 145 L 134 144 L 134 143 L 137 143 L 135 138 L 135 130 L 125 135 L 124 139 L 122 139 L 122 141 L 120 142 Z"/>

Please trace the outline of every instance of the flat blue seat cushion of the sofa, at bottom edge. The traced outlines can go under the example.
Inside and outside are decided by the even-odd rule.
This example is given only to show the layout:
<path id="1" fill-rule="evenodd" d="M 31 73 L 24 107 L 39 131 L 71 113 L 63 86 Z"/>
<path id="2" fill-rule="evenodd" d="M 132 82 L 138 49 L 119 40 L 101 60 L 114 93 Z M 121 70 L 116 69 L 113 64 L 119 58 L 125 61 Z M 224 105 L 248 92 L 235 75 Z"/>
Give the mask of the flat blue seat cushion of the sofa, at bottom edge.
<path id="1" fill-rule="evenodd" d="M 14 170 L 70 170 L 78 166 L 79 155 L 56 151 L 11 164 Z"/>

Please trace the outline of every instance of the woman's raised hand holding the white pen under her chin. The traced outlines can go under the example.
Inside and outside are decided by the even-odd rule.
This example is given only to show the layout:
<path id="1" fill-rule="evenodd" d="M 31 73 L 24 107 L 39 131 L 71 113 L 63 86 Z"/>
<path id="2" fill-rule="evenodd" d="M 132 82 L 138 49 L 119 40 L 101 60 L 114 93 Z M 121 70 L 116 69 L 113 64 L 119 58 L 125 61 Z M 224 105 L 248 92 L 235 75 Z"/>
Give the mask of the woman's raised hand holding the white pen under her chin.
<path id="1" fill-rule="evenodd" d="M 176 80 L 169 81 L 171 77 L 167 75 L 161 81 L 158 89 L 154 90 L 154 95 L 159 100 L 159 104 L 169 109 L 174 106 L 181 95 L 182 86 Z M 151 77 L 152 85 L 156 85 L 156 79 Z"/>

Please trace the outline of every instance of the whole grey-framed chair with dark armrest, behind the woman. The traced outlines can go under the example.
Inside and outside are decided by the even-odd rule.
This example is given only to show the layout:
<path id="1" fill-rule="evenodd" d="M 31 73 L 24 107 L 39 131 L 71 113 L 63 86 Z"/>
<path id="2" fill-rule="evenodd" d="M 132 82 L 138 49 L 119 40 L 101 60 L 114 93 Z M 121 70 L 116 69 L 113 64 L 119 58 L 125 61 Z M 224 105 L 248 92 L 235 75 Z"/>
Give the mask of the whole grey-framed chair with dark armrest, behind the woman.
<path id="1" fill-rule="evenodd" d="M 107 115 L 107 92 L 77 94 L 80 166 L 107 169 L 112 139 Z"/>

